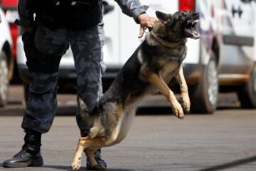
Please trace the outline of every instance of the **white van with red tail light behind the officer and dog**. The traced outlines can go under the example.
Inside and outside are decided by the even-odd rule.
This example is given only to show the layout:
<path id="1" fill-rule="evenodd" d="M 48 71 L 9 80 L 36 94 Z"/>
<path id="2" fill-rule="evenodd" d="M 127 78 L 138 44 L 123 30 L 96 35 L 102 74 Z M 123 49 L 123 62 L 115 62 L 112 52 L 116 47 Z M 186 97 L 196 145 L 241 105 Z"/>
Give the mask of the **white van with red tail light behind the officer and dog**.
<path id="1" fill-rule="evenodd" d="M 141 0 L 155 11 L 175 13 L 195 10 L 200 13 L 199 40 L 188 40 L 188 55 L 183 62 L 190 88 L 194 113 L 213 113 L 219 89 L 236 91 L 243 107 L 256 107 L 256 71 L 254 46 L 255 1 L 250 0 Z M 137 38 L 139 26 L 122 14 L 113 0 L 107 0 L 112 11 L 105 15 L 104 61 L 107 65 L 103 84 L 107 85 L 142 40 Z M 18 40 L 18 67 L 28 83 L 26 57 Z M 70 50 L 60 62 L 60 90 L 75 80 Z M 68 84 L 66 84 L 68 83 Z M 75 82 L 74 82 L 75 83 Z M 73 84 L 75 85 L 75 84 Z"/>

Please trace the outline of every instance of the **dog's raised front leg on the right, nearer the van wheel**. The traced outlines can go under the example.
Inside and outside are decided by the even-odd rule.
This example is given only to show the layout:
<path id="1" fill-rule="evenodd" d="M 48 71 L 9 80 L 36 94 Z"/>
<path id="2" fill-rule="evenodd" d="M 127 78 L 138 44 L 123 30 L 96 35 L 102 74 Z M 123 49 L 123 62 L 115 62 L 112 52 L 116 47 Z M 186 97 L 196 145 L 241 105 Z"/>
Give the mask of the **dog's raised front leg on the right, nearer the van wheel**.
<path id="1" fill-rule="evenodd" d="M 182 106 L 186 113 L 189 113 L 191 108 L 191 101 L 188 96 L 188 85 L 186 84 L 186 80 L 183 74 L 182 66 L 179 67 L 178 75 L 175 76 L 179 86 L 181 87 L 181 98 L 182 98 Z"/>

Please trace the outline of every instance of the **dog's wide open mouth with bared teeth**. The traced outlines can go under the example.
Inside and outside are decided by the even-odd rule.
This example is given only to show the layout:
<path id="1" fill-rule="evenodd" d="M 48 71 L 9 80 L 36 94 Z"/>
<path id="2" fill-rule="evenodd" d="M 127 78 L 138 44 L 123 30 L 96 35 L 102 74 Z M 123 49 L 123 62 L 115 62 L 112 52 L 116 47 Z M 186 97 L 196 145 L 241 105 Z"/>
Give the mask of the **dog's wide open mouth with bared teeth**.
<path id="1" fill-rule="evenodd" d="M 185 34 L 188 38 L 198 39 L 200 33 L 196 30 L 196 24 L 199 22 L 199 19 L 188 20 L 185 26 Z"/>

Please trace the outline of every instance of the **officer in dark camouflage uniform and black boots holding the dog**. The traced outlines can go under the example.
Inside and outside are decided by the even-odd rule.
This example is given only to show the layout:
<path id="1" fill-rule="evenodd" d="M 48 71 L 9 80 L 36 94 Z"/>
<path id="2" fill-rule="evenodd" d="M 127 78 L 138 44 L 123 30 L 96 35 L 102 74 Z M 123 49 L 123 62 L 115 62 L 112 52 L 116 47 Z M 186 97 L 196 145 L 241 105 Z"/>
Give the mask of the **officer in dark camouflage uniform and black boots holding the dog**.
<path id="1" fill-rule="evenodd" d="M 115 0 L 122 12 L 140 24 L 140 34 L 152 27 L 155 19 L 149 17 L 139 0 Z M 82 114 L 92 112 L 102 96 L 102 46 L 104 31 L 101 0 L 19 0 L 16 23 L 24 29 L 23 45 L 28 70 L 33 82 L 28 89 L 28 103 L 21 127 L 26 135 L 20 152 L 3 163 L 4 167 L 43 165 L 41 134 L 49 131 L 57 108 L 58 66 L 60 58 L 71 47 L 75 60 L 78 99 L 86 107 L 77 111 L 81 136 L 87 136 L 89 126 Z M 107 167 L 100 156 L 95 159 Z M 87 168 L 90 165 L 87 162 Z"/>

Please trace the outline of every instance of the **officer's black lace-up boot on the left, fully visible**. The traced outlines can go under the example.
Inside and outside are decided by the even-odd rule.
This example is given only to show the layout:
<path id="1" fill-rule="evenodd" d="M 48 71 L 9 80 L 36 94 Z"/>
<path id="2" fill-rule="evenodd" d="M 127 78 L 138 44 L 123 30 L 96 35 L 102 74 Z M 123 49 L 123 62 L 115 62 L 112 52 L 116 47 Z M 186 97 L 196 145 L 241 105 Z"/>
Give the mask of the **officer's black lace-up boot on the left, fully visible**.
<path id="1" fill-rule="evenodd" d="M 3 167 L 28 167 L 43 165 L 41 156 L 41 133 L 36 131 L 26 130 L 24 137 L 24 145 L 20 152 L 14 155 L 13 158 L 6 160 Z"/>

